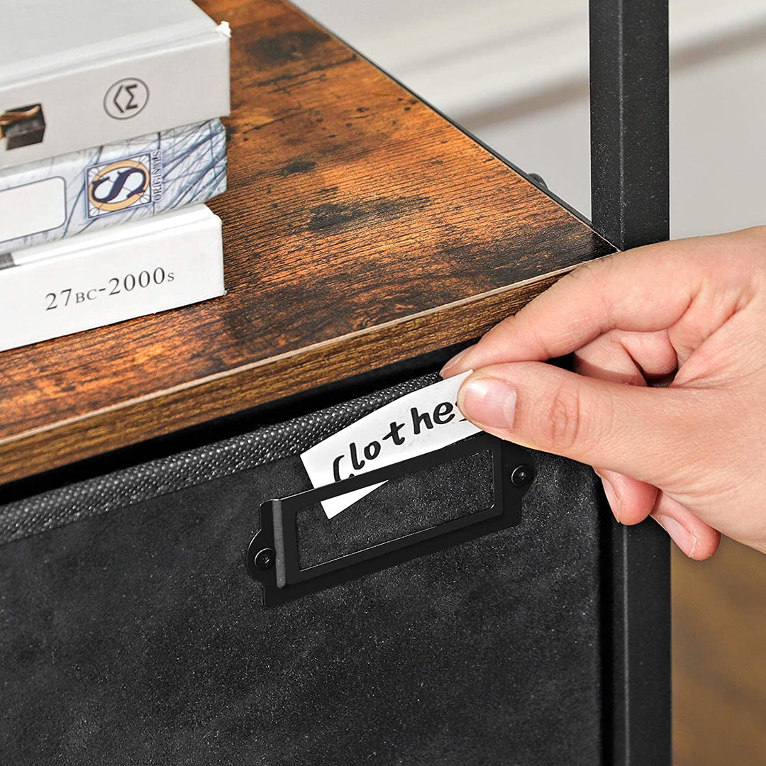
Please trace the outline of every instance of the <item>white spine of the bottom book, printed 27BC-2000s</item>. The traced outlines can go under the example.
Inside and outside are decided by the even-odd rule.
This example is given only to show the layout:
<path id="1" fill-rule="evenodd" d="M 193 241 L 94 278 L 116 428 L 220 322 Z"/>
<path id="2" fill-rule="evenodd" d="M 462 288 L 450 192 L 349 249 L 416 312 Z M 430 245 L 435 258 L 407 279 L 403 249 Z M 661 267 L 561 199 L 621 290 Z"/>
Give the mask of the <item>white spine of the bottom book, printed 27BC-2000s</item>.
<path id="1" fill-rule="evenodd" d="M 221 220 L 200 208 L 182 225 L 133 224 L 122 240 L 0 269 L 0 351 L 222 295 Z"/>

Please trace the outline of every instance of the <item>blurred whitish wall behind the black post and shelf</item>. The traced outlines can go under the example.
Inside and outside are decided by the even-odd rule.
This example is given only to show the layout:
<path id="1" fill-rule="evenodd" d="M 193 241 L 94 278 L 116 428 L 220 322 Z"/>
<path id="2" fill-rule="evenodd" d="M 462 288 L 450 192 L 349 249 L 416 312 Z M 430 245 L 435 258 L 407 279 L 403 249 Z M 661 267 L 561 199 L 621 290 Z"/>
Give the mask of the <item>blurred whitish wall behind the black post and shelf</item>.
<path id="1" fill-rule="evenodd" d="M 589 214 L 587 0 L 297 0 Z M 674 237 L 766 223 L 766 0 L 670 0 Z"/>

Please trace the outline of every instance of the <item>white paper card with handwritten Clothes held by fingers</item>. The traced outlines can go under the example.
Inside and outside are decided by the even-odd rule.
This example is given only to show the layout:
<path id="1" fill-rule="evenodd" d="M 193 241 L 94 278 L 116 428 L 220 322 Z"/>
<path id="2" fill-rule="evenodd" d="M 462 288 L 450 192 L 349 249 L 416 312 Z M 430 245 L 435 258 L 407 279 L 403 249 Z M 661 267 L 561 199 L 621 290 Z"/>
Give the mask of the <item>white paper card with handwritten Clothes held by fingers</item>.
<path id="1" fill-rule="evenodd" d="M 460 384 L 470 372 L 405 394 L 310 447 L 300 457 L 313 486 L 400 463 L 478 434 L 480 429 L 466 421 L 456 404 Z M 322 501 L 327 518 L 378 486 Z"/>

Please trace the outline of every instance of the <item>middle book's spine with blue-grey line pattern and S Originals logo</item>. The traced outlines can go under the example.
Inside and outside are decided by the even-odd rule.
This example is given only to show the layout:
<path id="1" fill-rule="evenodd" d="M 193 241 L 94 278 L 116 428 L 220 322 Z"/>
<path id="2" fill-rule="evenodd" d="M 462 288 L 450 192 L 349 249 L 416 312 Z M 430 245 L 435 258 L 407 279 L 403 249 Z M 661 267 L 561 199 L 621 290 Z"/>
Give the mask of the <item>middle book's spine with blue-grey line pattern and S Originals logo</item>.
<path id="1" fill-rule="evenodd" d="M 0 253 L 137 221 L 223 191 L 220 119 L 0 170 Z"/>

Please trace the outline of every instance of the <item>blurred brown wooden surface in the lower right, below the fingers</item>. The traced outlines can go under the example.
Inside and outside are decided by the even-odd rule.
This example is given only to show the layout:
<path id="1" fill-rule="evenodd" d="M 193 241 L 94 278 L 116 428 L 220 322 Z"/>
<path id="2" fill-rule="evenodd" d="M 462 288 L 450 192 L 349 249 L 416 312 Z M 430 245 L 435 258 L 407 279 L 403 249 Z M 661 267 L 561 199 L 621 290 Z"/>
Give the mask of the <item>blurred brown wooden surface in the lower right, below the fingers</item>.
<path id="1" fill-rule="evenodd" d="M 766 556 L 673 550 L 673 763 L 766 763 Z"/>

